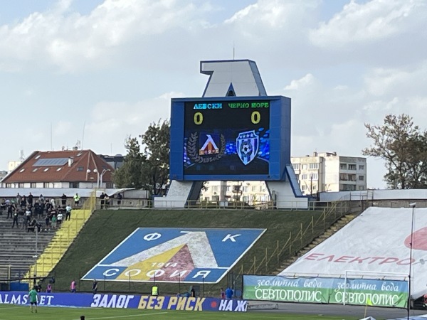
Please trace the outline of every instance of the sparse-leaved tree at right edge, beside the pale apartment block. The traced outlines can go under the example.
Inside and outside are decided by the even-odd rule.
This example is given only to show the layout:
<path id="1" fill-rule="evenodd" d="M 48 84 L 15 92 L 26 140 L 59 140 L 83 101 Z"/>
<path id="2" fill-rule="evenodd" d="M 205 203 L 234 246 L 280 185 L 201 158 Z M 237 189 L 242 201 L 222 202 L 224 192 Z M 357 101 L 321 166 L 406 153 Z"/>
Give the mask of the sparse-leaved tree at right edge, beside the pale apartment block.
<path id="1" fill-rule="evenodd" d="M 362 150 L 365 156 L 386 162 L 384 180 L 389 188 L 427 186 L 427 133 L 413 124 L 408 114 L 388 114 L 381 126 L 364 124 L 373 144 Z"/>

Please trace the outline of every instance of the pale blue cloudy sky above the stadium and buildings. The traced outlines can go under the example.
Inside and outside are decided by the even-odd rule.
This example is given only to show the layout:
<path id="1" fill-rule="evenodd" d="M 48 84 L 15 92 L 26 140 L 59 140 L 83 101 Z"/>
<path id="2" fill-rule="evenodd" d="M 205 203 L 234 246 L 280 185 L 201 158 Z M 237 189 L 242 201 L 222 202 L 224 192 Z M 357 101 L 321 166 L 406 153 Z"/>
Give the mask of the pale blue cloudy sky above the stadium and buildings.
<path id="1" fill-rule="evenodd" d="M 292 98 L 292 156 L 361 156 L 364 123 L 426 129 L 424 0 L 0 1 L 0 169 L 34 150 L 125 154 L 126 137 L 200 97 L 201 60 L 254 60 Z M 368 187 L 384 188 L 368 160 Z"/>

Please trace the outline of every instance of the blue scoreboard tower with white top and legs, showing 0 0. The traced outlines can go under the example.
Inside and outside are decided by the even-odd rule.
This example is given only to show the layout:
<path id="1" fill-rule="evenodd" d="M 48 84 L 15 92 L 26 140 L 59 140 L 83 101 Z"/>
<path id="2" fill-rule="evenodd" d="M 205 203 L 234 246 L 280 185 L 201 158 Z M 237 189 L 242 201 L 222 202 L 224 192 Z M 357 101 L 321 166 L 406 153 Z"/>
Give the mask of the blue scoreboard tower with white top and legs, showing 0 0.
<path id="1" fill-rule="evenodd" d="M 157 208 L 183 208 L 203 181 L 265 181 L 276 208 L 307 208 L 290 163 L 290 98 L 268 96 L 251 60 L 201 61 L 203 97 L 171 103 L 172 180 Z"/>

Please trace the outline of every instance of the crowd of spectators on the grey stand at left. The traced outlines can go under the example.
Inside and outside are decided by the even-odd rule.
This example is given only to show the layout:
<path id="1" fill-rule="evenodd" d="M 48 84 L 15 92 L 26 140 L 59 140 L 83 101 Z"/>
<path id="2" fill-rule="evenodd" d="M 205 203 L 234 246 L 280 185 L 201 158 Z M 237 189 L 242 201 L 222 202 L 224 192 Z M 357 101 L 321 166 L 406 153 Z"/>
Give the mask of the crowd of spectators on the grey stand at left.
<path id="1" fill-rule="evenodd" d="M 0 203 L 0 214 L 7 214 L 6 219 L 12 219 L 11 228 L 21 228 L 27 232 L 42 232 L 60 228 L 63 220 L 70 220 L 71 206 L 67 196 L 58 199 L 35 198 L 31 192 L 28 196 L 19 193 L 15 198 L 3 198 Z M 80 200 L 80 199 L 79 199 Z"/>

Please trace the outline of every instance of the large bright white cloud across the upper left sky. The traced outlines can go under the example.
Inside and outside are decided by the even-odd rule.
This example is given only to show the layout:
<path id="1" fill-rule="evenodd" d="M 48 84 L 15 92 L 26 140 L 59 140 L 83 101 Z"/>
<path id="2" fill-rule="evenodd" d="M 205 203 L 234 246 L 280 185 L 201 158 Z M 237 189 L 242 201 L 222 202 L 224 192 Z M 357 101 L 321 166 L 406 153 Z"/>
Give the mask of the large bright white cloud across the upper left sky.
<path id="1" fill-rule="evenodd" d="M 147 55 L 156 38 L 167 31 L 206 26 L 198 18 L 206 8 L 191 1 L 106 0 L 87 16 L 68 12 L 68 6 L 62 1 L 54 10 L 1 26 L 0 59 L 8 61 L 3 70 L 21 70 L 34 61 L 65 72 L 100 68 L 120 59 L 115 52 L 120 46 L 142 42 L 146 47 L 141 54 Z"/>

